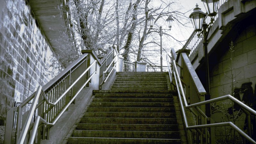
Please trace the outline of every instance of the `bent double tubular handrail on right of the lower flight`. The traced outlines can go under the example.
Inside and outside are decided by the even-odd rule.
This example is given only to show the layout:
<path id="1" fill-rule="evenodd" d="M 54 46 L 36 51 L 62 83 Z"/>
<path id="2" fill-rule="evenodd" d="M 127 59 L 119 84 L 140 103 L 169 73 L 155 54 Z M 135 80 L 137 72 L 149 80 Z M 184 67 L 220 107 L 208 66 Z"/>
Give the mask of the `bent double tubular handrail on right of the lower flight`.
<path id="1" fill-rule="evenodd" d="M 183 102 L 182 102 L 182 99 L 181 99 L 181 94 L 182 94 L 182 97 L 183 97 L 185 108 L 195 107 L 206 118 L 207 118 L 207 116 L 204 114 L 204 112 L 202 110 L 200 110 L 200 108 L 198 108 L 198 106 L 201 106 L 201 105 L 204 105 L 204 104 L 207 104 L 207 103 L 212 103 L 212 102 L 220 101 L 220 100 L 226 100 L 226 99 L 232 100 L 233 102 L 237 103 L 239 106 L 241 106 L 242 108 L 244 108 L 245 110 L 247 110 L 248 112 L 252 113 L 255 116 L 256 116 L 256 111 L 253 110 L 252 108 L 248 107 L 247 105 L 245 105 L 241 101 L 237 100 L 236 98 L 232 97 L 231 95 L 226 95 L 226 96 L 218 97 L 218 98 L 215 98 L 215 99 L 206 100 L 206 101 L 202 101 L 202 102 L 198 102 L 198 103 L 195 103 L 195 104 L 188 105 L 186 97 L 185 97 L 185 94 L 184 94 L 184 91 L 183 91 L 183 86 L 181 84 L 181 80 L 180 80 L 180 76 L 179 76 L 179 73 L 178 73 L 178 69 L 177 69 L 177 66 L 176 66 L 176 61 L 173 60 L 172 64 L 174 66 L 173 67 L 174 68 L 173 74 L 174 74 L 175 83 L 176 83 L 177 90 L 178 90 L 180 107 L 181 107 L 181 111 L 182 111 L 182 115 L 183 115 L 183 120 L 184 120 L 186 129 L 198 129 L 198 128 L 208 128 L 208 127 L 217 127 L 217 126 L 230 126 L 234 130 L 236 130 L 236 132 L 238 132 L 240 135 L 242 135 L 244 138 L 246 138 L 250 142 L 256 144 L 256 141 L 254 141 L 250 136 L 248 136 L 245 132 L 243 132 L 240 128 L 238 128 L 232 122 L 222 122 L 222 123 L 215 123 L 215 124 L 201 124 L 201 125 L 188 126 L 188 120 L 187 120 L 187 116 L 186 116 L 185 109 L 184 109 L 184 106 L 183 106 Z M 171 68 L 170 67 L 168 67 L 168 68 L 171 71 Z M 178 84 L 178 82 L 179 82 L 179 84 Z M 180 87 L 180 89 L 179 89 L 179 87 Z M 181 91 L 181 94 L 180 94 L 180 91 Z M 202 138 L 201 138 L 201 143 L 202 143 Z"/>

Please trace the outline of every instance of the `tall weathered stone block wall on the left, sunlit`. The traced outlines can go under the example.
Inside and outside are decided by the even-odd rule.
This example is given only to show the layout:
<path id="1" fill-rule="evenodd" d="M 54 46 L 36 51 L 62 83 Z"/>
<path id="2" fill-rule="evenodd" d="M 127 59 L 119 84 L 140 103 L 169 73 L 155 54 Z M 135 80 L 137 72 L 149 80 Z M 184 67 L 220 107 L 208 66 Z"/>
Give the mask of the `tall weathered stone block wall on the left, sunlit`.
<path id="1" fill-rule="evenodd" d="M 55 54 L 26 0 L 0 0 L 0 125 L 14 101 L 50 80 Z"/>

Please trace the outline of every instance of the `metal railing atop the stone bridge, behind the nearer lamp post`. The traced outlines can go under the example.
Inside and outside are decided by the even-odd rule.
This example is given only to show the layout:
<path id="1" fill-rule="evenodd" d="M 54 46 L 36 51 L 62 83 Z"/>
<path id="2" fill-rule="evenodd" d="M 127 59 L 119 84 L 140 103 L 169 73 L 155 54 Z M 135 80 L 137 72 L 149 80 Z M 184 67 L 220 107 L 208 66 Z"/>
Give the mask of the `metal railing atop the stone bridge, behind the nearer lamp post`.
<path id="1" fill-rule="evenodd" d="M 224 4 L 225 2 L 227 2 L 228 0 L 220 0 L 219 1 L 219 7 Z M 218 18 L 218 13 L 215 17 L 209 17 L 206 16 L 205 17 L 205 22 L 207 24 L 212 23 L 212 20 L 216 20 Z M 209 27 L 210 25 L 208 25 Z M 195 31 L 193 31 L 193 33 L 191 34 L 191 36 L 188 38 L 187 42 L 184 44 L 184 46 L 182 47 L 182 49 L 189 49 L 190 54 L 196 49 L 196 47 L 200 44 L 200 42 L 203 40 L 202 38 L 202 34 L 199 35 L 199 33 L 196 33 Z M 203 44 L 203 43 L 202 43 Z"/>

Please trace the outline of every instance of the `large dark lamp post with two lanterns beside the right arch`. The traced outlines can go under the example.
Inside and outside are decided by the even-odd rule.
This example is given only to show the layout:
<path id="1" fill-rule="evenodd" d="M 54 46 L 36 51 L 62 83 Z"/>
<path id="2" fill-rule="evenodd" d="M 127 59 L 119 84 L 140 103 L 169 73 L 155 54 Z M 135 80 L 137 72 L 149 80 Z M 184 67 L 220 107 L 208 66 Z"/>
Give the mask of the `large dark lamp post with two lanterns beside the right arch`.
<path id="1" fill-rule="evenodd" d="M 193 26 L 195 28 L 196 32 L 202 31 L 203 28 L 203 39 L 204 39 L 204 62 L 205 62 L 205 79 L 206 79 L 206 94 L 204 96 L 205 100 L 210 100 L 211 95 L 210 95 L 210 83 L 209 83 L 209 61 L 208 61 L 208 35 L 209 35 L 209 30 L 212 26 L 213 23 L 213 18 L 208 25 L 205 22 L 205 17 L 208 15 L 210 17 L 214 17 L 217 15 L 217 10 L 218 10 L 218 5 L 219 5 L 219 0 L 201 0 L 204 2 L 204 7 L 207 11 L 207 13 L 204 13 L 196 4 L 196 8 L 194 11 L 190 14 L 189 18 L 191 19 Z M 206 105 L 206 116 L 210 117 L 210 104 Z"/>

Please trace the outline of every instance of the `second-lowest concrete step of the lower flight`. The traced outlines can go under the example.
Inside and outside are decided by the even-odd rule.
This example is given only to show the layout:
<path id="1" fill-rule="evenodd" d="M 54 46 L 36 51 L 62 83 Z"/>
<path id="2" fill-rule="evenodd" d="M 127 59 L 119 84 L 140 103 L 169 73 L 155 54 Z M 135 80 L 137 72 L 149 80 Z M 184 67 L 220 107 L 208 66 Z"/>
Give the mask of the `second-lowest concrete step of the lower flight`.
<path id="1" fill-rule="evenodd" d="M 101 137 L 101 138 L 153 138 L 153 139 L 175 139 L 179 137 L 177 131 L 92 131 L 74 130 L 73 137 Z"/>

